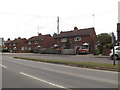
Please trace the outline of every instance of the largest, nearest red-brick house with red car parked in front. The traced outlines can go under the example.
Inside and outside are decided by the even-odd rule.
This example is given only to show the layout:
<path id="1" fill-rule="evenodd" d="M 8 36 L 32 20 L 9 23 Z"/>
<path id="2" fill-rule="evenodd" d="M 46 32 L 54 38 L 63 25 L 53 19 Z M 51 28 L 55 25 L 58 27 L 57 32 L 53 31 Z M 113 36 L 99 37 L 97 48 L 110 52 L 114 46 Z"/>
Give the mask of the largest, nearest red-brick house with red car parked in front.
<path id="1" fill-rule="evenodd" d="M 96 45 L 96 32 L 94 28 L 78 29 L 74 27 L 74 30 L 61 32 L 54 36 L 56 44 L 65 47 L 67 40 L 70 41 L 70 49 L 76 49 L 77 47 L 83 47 L 88 45 L 92 52 Z"/>

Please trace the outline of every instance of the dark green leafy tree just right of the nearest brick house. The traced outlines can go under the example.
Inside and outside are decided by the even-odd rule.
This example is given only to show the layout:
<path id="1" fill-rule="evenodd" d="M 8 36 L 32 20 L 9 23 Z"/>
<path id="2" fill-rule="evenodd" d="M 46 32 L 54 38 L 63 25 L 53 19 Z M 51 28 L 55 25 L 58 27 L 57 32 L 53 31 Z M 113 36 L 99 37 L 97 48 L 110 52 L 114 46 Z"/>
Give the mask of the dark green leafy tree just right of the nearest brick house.
<path id="1" fill-rule="evenodd" d="M 102 53 L 103 49 L 105 49 L 108 44 L 111 44 L 111 35 L 108 33 L 101 33 L 97 35 L 97 40 L 99 41 L 99 48 L 100 48 L 100 53 Z"/>

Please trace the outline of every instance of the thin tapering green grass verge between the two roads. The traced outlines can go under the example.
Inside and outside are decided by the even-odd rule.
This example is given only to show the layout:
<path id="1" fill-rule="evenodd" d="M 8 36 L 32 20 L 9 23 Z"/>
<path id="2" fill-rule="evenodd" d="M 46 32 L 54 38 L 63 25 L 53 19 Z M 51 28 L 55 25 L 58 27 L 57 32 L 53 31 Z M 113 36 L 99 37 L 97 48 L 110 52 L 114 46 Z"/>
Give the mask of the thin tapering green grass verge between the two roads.
<path id="1" fill-rule="evenodd" d="M 75 61 L 65 61 L 65 60 L 26 58 L 26 57 L 14 57 L 14 58 L 47 62 L 47 63 L 64 64 L 64 65 L 69 65 L 69 66 L 92 68 L 92 69 L 99 69 L 99 70 L 120 71 L 120 69 L 118 69 L 118 64 L 114 66 L 113 64 L 106 64 L 106 63 L 75 62 Z"/>

